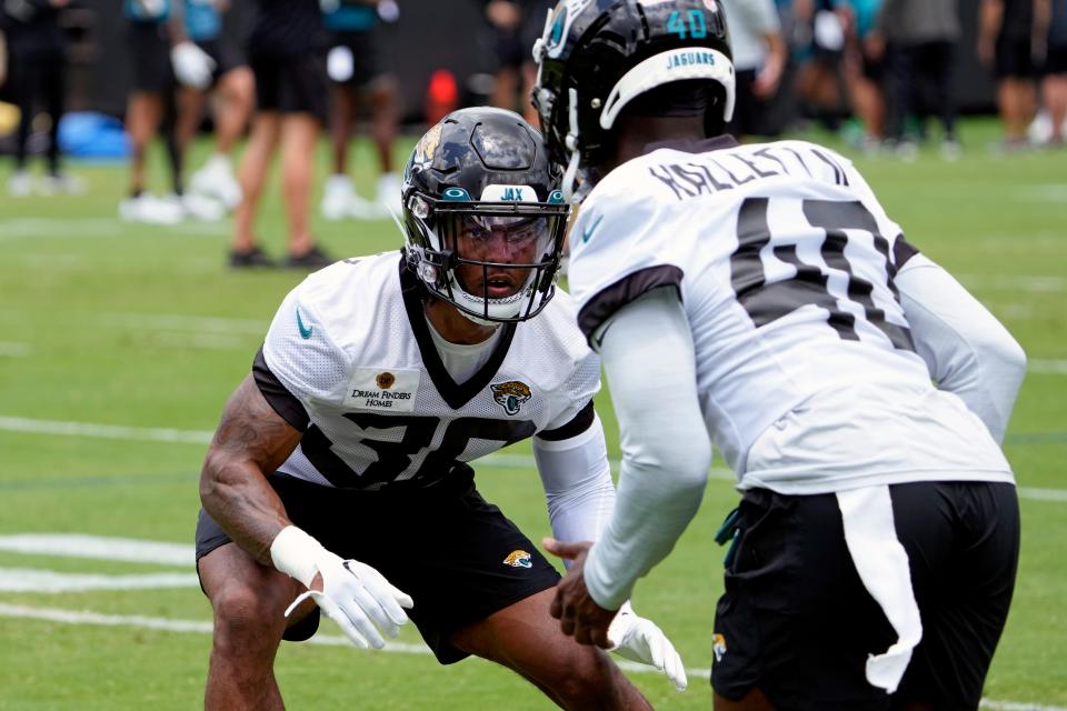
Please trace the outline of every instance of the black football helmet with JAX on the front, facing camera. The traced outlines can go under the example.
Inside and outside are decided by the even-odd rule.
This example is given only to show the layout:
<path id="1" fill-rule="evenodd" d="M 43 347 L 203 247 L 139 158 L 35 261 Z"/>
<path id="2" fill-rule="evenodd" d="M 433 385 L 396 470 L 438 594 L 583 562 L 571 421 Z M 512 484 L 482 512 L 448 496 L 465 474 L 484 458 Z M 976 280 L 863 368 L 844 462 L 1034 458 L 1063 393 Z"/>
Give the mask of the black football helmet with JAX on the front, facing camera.
<path id="1" fill-rule="evenodd" d="M 495 323 L 537 316 L 556 293 L 570 208 L 541 134 L 519 114 L 449 113 L 415 147 L 402 190 L 405 254 L 430 294 Z M 525 257 L 463 253 L 493 236 Z M 463 283 L 472 270 L 480 278 Z"/>

